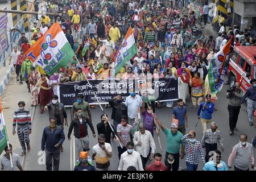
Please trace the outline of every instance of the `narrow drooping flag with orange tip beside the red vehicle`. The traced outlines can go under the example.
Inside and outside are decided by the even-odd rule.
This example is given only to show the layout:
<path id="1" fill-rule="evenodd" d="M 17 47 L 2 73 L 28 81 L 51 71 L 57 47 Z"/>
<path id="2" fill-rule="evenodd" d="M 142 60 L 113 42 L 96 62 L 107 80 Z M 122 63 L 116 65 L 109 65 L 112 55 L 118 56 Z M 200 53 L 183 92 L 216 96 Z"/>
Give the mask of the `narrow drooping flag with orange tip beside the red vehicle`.
<path id="1" fill-rule="evenodd" d="M 229 42 L 216 53 L 214 57 L 210 60 L 209 70 L 208 70 L 208 80 L 211 93 L 218 93 L 221 91 L 224 84 L 224 75 L 222 72 L 224 64 L 228 61 L 228 54 L 230 49 L 232 38 L 229 39 Z M 226 55 L 226 59 L 224 57 Z M 217 81 L 218 80 L 218 81 Z"/>

